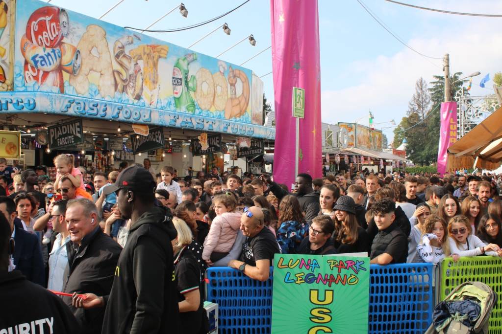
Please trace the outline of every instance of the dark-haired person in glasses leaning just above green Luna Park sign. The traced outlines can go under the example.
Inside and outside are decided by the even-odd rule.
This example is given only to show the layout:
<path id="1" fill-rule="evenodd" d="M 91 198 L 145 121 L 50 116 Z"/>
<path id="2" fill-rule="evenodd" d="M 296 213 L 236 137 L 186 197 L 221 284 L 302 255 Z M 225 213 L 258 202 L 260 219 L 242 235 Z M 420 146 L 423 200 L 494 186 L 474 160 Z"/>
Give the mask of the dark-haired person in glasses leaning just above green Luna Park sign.
<path id="1" fill-rule="evenodd" d="M 336 254 L 330 239 L 335 226 L 331 217 L 323 214 L 312 219 L 309 235 L 306 236 L 297 249 L 298 254 L 328 255 Z"/>

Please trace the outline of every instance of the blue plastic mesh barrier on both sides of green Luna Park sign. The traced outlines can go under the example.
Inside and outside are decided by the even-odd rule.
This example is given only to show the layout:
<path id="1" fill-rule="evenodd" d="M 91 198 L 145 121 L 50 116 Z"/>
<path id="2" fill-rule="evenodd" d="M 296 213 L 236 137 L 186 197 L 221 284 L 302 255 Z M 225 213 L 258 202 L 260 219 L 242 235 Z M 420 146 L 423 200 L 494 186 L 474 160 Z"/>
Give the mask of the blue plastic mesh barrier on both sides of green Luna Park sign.
<path id="1" fill-rule="evenodd" d="M 271 332 L 272 269 L 266 282 L 228 267 L 207 269 L 207 300 L 218 304 L 220 333 Z M 423 333 L 432 303 L 432 264 L 370 266 L 368 333 Z"/>

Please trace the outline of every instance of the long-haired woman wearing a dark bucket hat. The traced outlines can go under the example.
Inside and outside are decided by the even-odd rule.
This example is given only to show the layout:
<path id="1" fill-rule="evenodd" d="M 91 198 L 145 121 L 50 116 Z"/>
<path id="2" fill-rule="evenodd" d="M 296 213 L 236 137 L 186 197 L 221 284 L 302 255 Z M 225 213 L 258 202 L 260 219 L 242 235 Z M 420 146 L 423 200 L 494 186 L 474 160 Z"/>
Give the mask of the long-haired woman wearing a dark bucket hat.
<path id="1" fill-rule="evenodd" d="M 333 245 L 341 253 L 367 253 L 369 238 L 366 230 L 359 226 L 355 217 L 355 202 L 350 196 L 341 196 L 333 207 L 335 211 L 335 232 Z"/>

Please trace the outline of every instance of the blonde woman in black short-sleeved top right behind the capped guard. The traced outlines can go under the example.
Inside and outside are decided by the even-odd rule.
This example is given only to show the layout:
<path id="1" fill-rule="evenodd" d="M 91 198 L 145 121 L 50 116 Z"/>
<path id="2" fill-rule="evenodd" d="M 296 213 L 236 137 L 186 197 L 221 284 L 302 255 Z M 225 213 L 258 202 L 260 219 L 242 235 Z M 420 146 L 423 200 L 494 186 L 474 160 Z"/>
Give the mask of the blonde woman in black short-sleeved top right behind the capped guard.
<path id="1" fill-rule="evenodd" d="M 200 269 L 193 253 L 189 249 L 192 232 L 186 222 L 173 218 L 177 236 L 171 243 L 174 253 L 174 276 L 178 288 L 178 308 L 183 332 L 197 334 L 202 332 L 205 311 L 201 294 Z"/>

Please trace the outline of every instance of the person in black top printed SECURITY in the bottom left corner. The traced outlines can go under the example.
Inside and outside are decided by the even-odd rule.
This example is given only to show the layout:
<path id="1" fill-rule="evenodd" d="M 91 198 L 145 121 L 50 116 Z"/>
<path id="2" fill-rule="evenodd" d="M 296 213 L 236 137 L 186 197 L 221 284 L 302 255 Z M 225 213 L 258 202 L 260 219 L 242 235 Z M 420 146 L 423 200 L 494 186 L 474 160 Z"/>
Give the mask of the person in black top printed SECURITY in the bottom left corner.
<path id="1" fill-rule="evenodd" d="M 75 316 L 54 293 L 30 282 L 19 270 L 10 271 L 15 244 L 11 227 L 0 212 L 0 333 L 80 333 Z M 31 327 L 30 327 L 31 324 Z"/>

